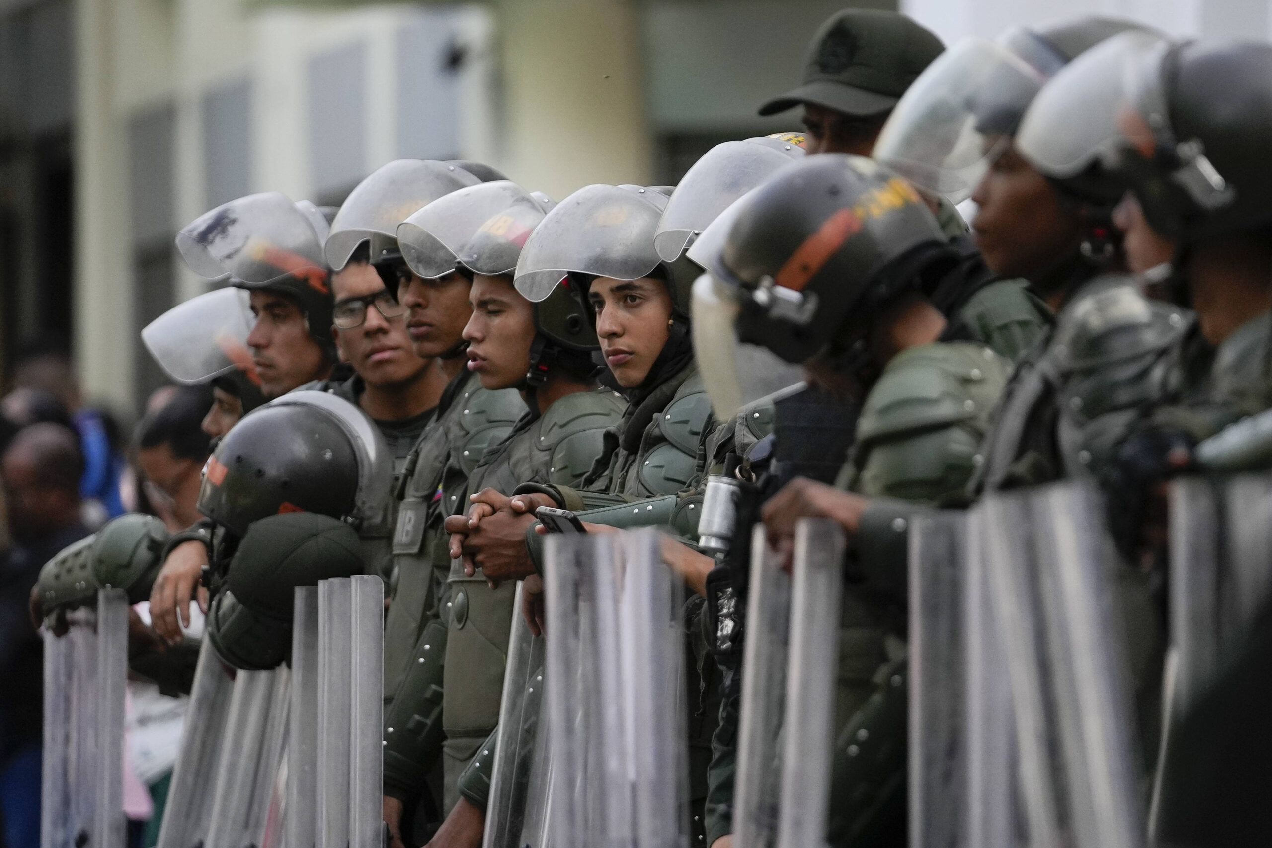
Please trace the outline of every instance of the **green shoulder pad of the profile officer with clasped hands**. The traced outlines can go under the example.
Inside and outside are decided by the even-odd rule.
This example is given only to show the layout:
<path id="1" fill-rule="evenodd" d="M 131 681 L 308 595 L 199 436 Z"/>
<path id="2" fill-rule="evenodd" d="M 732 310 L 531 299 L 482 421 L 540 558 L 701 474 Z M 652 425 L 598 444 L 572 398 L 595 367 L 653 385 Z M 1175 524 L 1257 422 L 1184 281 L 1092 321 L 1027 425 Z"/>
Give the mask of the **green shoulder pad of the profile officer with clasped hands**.
<path id="1" fill-rule="evenodd" d="M 577 392 L 548 407 L 536 448 L 552 454 L 551 481 L 581 481 L 602 453 L 605 428 L 618 423 L 626 408 L 622 395 L 609 389 Z"/>

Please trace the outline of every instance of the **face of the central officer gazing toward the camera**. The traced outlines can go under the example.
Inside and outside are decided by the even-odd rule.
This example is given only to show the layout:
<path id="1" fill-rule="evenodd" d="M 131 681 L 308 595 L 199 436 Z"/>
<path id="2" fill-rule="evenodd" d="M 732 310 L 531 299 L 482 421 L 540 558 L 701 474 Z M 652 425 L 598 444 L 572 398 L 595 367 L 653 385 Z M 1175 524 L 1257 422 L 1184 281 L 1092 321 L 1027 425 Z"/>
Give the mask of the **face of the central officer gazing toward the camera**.
<path id="1" fill-rule="evenodd" d="M 633 389 L 667 346 L 672 296 L 661 280 L 597 277 L 588 290 L 597 314 L 597 336 L 605 365 L 618 385 Z"/>

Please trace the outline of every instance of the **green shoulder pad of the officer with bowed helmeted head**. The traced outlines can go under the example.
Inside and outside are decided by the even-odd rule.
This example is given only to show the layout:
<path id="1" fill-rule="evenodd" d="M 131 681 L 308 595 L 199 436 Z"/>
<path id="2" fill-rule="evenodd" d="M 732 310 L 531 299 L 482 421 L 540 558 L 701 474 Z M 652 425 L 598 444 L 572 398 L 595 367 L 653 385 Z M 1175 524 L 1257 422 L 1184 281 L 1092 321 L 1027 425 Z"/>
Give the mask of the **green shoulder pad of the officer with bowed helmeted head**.
<path id="1" fill-rule="evenodd" d="M 1010 362 L 965 342 L 911 347 L 888 362 L 857 421 L 859 446 L 916 430 L 988 418 Z"/>

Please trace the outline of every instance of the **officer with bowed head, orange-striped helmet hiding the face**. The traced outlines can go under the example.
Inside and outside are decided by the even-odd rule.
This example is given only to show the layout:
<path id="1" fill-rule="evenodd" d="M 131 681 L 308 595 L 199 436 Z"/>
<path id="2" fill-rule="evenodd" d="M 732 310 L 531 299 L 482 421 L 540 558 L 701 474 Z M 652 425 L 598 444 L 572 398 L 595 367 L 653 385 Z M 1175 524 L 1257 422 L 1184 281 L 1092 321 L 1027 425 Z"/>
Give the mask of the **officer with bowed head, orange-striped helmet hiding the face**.
<path id="1" fill-rule="evenodd" d="M 795 521 L 806 515 L 833 517 L 856 537 L 854 571 L 862 582 L 845 590 L 837 712 L 862 721 L 855 713 L 876 704 L 879 715 L 865 721 L 887 748 L 884 740 L 894 741 L 904 727 L 897 718 L 904 715 L 903 693 L 885 684 L 883 706 L 871 701 L 874 681 L 895 679 L 903 664 L 903 652 L 889 646 L 903 639 L 897 623 L 904 557 L 898 568 L 889 534 L 902 535 L 895 517 L 915 509 L 904 501 L 962 500 L 1010 362 L 982 343 L 941 341 L 946 319 L 926 297 L 925 264 L 913 258 L 948 249 L 945 238 L 913 188 L 874 161 L 817 156 L 739 203 L 711 277 L 695 285 L 695 313 L 725 315 L 698 325 L 700 343 L 711 345 L 703 332 L 734 332 L 729 324 L 735 324 L 739 339 L 804 364 L 809 380 L 824 390 L 864 398 L 836 486 L 798 478 L 764 505 L 763 517 L 778 545 L 790 544 Z M 824 247 L 809 250 L 810 238 Z M 725 374 L 709 388 L 715 390 Z M 855 751 L 843 753 L 851 741 L 836 749 L 833 844 L 851 844 L 862 833 L 895 833 L 904 821 L 899 782 L 871 784 L 850 762 Z M 903 756 L 884 769 L 903 770 Z M 730 816 L 712 814 L 719 839 L 729 833 Z"/>

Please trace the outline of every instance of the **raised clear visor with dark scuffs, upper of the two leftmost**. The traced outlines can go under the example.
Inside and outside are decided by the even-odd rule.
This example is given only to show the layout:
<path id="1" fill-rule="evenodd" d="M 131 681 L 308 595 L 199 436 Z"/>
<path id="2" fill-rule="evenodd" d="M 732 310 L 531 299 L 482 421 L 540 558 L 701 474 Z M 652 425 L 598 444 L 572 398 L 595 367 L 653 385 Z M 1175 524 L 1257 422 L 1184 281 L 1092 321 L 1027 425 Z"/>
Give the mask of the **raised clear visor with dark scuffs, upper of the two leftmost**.
<path id="1" fill-rule="evenodd" d="M 289 275 L 327 275 L 310 216 L 279 192 L 239 197 L 200 215 L 177 234 L 177 249 L 206 280 L 229 275 L 266 284 Z"/>

